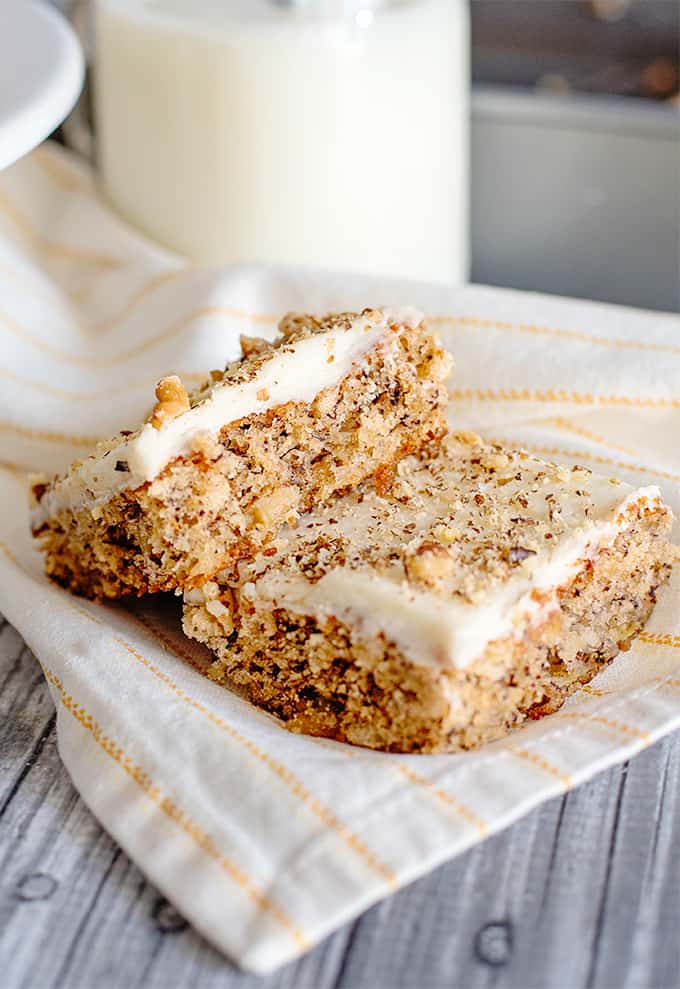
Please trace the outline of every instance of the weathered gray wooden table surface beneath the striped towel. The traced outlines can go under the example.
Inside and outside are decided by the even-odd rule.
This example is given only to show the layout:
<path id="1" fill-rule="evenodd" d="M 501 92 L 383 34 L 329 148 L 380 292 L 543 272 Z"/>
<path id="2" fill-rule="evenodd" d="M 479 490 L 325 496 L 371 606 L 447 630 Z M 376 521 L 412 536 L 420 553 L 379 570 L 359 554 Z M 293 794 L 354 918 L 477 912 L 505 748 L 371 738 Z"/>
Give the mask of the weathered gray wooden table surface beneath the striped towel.
<path id="1" fill-rule="evenodd" d="M 539 808 L 267 979 L 192 931 L 78 797 L 0 625 L 3 989 L 680 986 L 680 735 Z"/>

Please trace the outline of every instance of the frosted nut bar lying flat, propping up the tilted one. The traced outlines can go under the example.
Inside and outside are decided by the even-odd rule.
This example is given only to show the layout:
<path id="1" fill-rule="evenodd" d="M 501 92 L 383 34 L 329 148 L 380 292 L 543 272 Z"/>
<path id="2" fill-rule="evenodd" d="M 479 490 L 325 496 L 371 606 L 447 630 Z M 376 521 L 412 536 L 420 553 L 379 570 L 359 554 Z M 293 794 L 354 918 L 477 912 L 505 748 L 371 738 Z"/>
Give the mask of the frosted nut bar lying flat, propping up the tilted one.
<path id="1" fill-rule="evenodd" d="M 647 621 L 672 516 L 634 490 L 450 437 L 185 595 L 210 676 L 298 732 L 455 751 L 555 711 Z"/>

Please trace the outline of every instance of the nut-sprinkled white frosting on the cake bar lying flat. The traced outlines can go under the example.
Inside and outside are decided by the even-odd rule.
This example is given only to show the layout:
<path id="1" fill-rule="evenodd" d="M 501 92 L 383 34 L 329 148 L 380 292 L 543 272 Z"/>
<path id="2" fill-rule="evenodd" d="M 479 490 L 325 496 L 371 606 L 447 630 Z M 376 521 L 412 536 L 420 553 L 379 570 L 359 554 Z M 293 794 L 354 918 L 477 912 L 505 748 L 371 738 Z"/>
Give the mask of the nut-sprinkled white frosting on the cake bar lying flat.
<path id="1" fill-rule="evenodd" d="M 462 668 L 548 617 L 584 561 L 639 508 L 661 504 L 656 487 L 455 440 L 433 465 L 412 461 L 401 474 L 393 496 L 355 493 L 303 516 L 276 556 L 241 565 L 240 593 L 256 608 L 382 635 L 415 664 Z"/>

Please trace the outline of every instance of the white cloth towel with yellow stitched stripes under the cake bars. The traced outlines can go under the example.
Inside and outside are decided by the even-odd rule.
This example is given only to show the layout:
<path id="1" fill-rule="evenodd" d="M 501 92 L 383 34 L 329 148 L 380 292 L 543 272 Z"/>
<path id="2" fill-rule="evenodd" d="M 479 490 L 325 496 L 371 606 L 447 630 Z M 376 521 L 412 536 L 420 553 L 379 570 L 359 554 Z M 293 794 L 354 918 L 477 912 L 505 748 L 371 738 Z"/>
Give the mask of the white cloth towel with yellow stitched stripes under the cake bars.
<path id="1" fill-rule="evenodd" d="M 43 665 L 84 800 L 213 944 L 259 972 L 680 725 L 680 556 L 635 647 L 563 711 L 479 752 L 406 758 L 289 735 L 192 668 L 172 604 L 99 607 L 43 578 L 23 469 L 63 466 L 135 424 L 159 376 L 198 380 L 287 309 L 383 302 L 436 319 L 457 359 L 456 425 L 658 482 L 680 513 L 677 316 L 192 269 L 127 230 L 57 149 L 0 175 L 0 608 Z"/>

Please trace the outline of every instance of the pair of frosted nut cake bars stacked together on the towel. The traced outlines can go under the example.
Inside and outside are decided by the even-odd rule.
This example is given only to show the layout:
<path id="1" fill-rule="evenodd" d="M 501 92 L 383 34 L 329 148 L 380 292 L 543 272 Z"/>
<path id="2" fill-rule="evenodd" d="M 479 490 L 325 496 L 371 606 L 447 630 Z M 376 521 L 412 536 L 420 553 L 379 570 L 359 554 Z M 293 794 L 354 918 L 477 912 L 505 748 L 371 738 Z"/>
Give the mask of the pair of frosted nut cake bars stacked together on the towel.
<path id="1" fill-rule="evenodd" d="M 656 488 L 446 436 L 451 361 L 412 310 L 286 317 L 272 343 L 33 488 L 48 574 L 183 594 L 209 675 L 289 728 L 470 748 L 556 710 L 670 572 Z"/>

